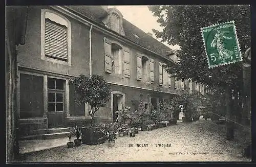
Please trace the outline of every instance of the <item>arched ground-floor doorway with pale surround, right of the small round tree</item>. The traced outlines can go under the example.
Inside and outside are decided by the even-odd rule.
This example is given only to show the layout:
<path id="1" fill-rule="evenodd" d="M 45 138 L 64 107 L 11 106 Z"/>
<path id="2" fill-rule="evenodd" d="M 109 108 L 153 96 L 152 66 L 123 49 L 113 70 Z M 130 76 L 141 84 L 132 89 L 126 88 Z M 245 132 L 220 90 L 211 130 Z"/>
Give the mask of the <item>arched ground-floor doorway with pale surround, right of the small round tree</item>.
<path id="1" fill-rule="evenodd" d="M 125 94 L 121 91 L 113 91 L 111 94 L 111 111 L 113 116 L 113 122 L 118 118 L 116 111 L 125 107 Z"/>

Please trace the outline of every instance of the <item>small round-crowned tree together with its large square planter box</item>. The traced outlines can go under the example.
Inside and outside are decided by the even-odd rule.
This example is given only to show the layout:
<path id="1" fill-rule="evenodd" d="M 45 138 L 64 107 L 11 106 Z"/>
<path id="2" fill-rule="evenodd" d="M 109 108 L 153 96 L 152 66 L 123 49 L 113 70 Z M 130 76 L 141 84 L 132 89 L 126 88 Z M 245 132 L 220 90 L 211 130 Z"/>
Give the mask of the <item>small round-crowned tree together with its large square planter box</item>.
<path id="1" fill-rule="evenodd" d="M 94 114 L 100 107 L 104 107 L 110 101 L 111 88 L 102 76 L 92 75 L 88 78 L 80 75 L 71 81 L 75 87 L 75 102 L 79 105 L 88 103 L 91 106 L 89 115 L 91 116 L 91 127 L 82 127 L 82 143 L 86 145 L 97 145 L 101 142 L 98 138 L 103 137 L 100 128 L 96 127 Z"/>

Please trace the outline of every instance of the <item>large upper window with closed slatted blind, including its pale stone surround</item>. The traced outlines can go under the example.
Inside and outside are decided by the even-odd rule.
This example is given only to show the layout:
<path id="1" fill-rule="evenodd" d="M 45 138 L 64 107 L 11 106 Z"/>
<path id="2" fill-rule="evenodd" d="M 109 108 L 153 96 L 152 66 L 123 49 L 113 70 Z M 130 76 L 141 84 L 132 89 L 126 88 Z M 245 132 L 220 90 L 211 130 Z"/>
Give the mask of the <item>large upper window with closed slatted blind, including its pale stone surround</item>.
<path id="1" fill-rule="evenodd" d="M 71 65 L 71 23 L 49 9 L 41 10 L 41 59 Z"/>

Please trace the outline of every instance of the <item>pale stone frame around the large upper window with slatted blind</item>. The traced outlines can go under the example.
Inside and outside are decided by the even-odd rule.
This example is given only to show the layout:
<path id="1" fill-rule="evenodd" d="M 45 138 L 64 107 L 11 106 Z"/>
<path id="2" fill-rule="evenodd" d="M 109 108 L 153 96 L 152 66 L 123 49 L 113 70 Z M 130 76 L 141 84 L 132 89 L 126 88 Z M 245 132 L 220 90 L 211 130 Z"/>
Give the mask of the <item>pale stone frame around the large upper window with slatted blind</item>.
<path id="1" fill-rule="evenodd" d="M 56 59 L 54 57 L 48 57 L 45 55 L 45 19 L 46 19 L 46 13 L 52 13 L 58 17 L 61 17 L 67 22 L 67 43 L 68 43 L 68 58 L 67 61 Z M 58 64 L 68 65 L 71 66 L 71 22 L 68 20 L 65 16 L 59 14 L 58 12 L 55 12 L 50 9 L 41 9 L 41 60 L 51 61 Z"/>

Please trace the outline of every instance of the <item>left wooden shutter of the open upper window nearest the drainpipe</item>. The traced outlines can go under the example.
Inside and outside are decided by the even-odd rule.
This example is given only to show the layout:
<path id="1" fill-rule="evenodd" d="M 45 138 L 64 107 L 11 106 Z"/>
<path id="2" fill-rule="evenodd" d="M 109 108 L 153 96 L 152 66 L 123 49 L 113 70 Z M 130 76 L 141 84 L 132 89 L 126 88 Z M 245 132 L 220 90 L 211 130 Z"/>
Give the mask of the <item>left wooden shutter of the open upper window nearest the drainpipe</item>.
<path id="1" fill-rule="evenodd" d="M 105 71 L 111 73 L 112 71 L 112 55 L 111 55 L 111 42 L 104 38 L 104 55 L 105 55 Z"/>

